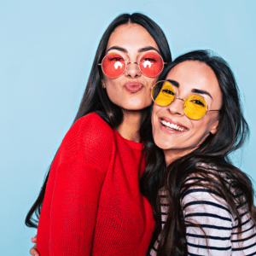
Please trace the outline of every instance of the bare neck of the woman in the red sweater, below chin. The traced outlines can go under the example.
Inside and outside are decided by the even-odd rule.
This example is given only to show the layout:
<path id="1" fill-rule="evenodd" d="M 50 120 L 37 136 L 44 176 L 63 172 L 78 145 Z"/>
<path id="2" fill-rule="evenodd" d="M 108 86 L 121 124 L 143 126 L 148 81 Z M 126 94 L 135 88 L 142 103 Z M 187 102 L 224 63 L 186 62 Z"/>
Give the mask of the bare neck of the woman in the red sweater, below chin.
<path id="1" fill-rule="evenodd" d="M 116 128 L 116 130 L 119 132 L 121 137 L 124 137 L 129 141 L 139 143 L 139 130 L 142 113 L 140 111 L 129 111 L 123 109 L 123 114 L 123 122 Z"/>

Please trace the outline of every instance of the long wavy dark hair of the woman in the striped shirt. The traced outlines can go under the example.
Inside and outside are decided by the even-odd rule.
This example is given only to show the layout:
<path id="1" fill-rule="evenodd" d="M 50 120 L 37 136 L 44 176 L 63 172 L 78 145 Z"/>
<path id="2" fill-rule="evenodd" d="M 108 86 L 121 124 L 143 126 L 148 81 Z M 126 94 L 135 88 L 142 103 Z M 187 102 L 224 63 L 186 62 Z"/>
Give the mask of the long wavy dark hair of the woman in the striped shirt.
<path id="1" fill-rule="evenodd" d="M 213 193 L 217 193 L 227 201 L 230 212 L 237 218 L 238 230 L 241 231 L 241 216 L 236 208 L 237 204 L 240 205 L 246 202 L 247 211 L 251 215 L 253 222 L 256 223 L 252 183 L 244 172 L 231 165 L 229 158 L 230 152 L 241 148 L 249 133 L 247 122 L 241 111 L 241 100 L 234 74 L 221 57 L 213 55 L 211 51 L 195 50 L 177 57 L 160 74 L 159 80 L 165 79 L 170 70 L 183 61 L 201 61 L 212 68 L 222 93 L 222 107 L 219 112 L 218 131 L 215 134 L 210 134 L 192 153 L 173 161 L 171 165 L 166 167 L 160 148 L 154 145 L 147 148 L 148 162 L 141 181 L 144 181 L 143 186 L 148 188 L 147 183 L 153 183 L 151 177 L 157 175 L 162 177 L 162 182 L 155 185 L 158 185 L 159 189 L 164 188 L 167 191 L 167 200 L 170 206 L 164 230 L 161 231 L 160 195 L 152 202 L 156 226 L 151 247 L 161 231 L 157 248 L 157 255 L 161 256 L 188 255 L 181 199 L 192 186 L 207 187 L 207 189 L 211 189 Z M 150 125 L 150 119 L 147 121 L 148 125 Z M 148 129 L 151 130 L 151 127 L 148 126 Z M 153 143 L 152 136 L 147 144 L 150 145 L 150 143 Z M 161 155 L 161 158 L 154 163 L 155 157 L 159 155 Z M 198 163 L 204 163 L 202 166 L 208 167 L 198 166 Z M 209 166 L 214 167 L 212 169 Z M 188 184 L 185 183 L 188 177 L 200 178 Z M 229 180 L 230 183 L 227 184 L 226 180 Z M 235 200 L 232 193 L 244 196 L 240 196 Z M 145 195 L 147 196 L 147 193 Z M 151 196 L 152 199 L 153 197 Z"/>

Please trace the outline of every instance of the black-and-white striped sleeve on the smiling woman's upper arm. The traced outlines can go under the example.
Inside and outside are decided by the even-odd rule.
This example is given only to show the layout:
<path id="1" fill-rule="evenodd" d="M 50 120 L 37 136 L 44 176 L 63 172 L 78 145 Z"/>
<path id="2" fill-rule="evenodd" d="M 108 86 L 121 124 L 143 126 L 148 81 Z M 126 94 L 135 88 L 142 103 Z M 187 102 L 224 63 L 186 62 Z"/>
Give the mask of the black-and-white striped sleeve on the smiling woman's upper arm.
<path id="1" fill-rule="evenodd" d="M 194 187 L 183 197 L 182 206 L 188 255 L 231 255 L 232 217 L 226 201 L 210 190 Z"/>

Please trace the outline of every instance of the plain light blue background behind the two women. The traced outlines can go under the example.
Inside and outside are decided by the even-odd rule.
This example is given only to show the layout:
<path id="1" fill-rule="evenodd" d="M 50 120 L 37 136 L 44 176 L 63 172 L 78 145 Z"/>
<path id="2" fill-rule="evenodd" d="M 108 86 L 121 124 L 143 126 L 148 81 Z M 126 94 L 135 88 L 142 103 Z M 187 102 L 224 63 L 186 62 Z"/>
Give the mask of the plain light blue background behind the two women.
<path id="1" fill-rule="evenodd" d="M 234 158 L 256 180 L 256 1 L 1 0 L 1 255 L 29 254 L 36 230 L 26 212 L 79 108 L 97 44 L 113 18 L 135 11 L 162 27 L 173 57 L 213 49 L 230 63 L 252 131 Z"/>

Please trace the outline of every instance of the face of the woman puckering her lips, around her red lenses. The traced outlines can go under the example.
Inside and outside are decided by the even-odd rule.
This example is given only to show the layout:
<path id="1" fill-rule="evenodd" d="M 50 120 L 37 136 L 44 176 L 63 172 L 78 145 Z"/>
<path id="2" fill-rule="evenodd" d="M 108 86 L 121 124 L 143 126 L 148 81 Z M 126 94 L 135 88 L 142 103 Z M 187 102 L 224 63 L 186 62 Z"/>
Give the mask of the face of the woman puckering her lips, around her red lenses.
<path id="1" fill-rule="evenodd" d="M 143 26 L 125 24 L 118 26 L 111 34 L 106 55 L 118 53 L 127 62 L 138 62 L 147 52 L 159 52 L 154 38 Z M 146 77 L 136 63 L 131 63 L 119 78 L 111 79 L 104 75 L 102 84 L 111 102 L 123 110 L 136 111 L 151 104 L 150 90 L 157 78 Z"/>

